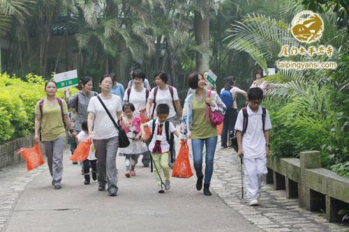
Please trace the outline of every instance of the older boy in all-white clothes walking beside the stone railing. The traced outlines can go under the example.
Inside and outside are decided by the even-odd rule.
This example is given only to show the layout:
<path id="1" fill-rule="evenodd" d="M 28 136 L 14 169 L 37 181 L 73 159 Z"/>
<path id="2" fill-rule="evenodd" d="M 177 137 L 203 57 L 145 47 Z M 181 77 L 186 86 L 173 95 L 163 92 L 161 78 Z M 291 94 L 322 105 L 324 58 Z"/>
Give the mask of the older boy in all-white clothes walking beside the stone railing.
<path id="1" fill-rule="evenodd" d="M 244 161 L 248 204 L 257 206 L 267 174 L 269 130 L 272 129 L 272 123 L 267 109 L 260 106 L 263 99 L 262 89 L 250 88 L 247 95 L 248 106 L 239 111 L 235 124 L 237 155 Z"/>

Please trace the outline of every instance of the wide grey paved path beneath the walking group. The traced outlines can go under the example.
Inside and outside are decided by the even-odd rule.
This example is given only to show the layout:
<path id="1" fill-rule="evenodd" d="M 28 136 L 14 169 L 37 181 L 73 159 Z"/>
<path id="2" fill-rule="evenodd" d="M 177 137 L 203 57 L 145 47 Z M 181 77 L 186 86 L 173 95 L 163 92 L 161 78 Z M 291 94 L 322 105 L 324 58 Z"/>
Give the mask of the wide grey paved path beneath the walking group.
<path id="1" fill-rule="evenodd" d="M 137 176 L 124 176 L 117 157 L 118 196 L 83 185 L 80 167 L 64 154 L 61 190 L 53 190 L 47 165 L 27 173 L 24 164 L 3 169 L 0 180 L 0 231 L 261 231 L 216 194 L 195 189 L 196 178 L 172 178 L 158 194 L 154 174 L 141 164 Z"/>

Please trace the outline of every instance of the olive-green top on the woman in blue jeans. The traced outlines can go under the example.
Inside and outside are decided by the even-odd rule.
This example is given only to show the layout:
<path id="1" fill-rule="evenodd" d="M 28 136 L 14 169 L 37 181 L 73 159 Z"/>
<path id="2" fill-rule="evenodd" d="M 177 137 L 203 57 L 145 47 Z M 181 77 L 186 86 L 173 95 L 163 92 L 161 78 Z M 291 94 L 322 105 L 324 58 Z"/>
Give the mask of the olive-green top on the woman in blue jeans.
<path id="1" fill-rule="evenodd" d="M 207 139 L 217 136 L 217 128 L 206 121 L 206 102 L 199 102 L 193 94 L 193 123 L 191 125 L 192 139 Z"/>

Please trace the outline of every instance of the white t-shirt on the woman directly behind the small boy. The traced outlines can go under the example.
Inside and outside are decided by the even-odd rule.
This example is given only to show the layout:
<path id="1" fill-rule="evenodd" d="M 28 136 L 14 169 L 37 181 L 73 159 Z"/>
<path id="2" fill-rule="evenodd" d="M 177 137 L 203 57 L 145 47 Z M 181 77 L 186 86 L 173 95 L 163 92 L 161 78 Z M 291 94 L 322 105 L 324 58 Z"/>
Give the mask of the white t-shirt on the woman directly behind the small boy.
<path id="1" fill-rule="evenodd" d="M 149 94 L 149 98 L 148 98 L 149 100 L 154 101 L 155 88 L 151 89 L 150 94 Z M 179 100 L 177 88 L 174 88 L 174 87 L 172 87 L 172 88 L 173 88 L 173 100 L 174 101 Z M 167 104 L 170 107 L 170 114 L 168 114 L 168 118 L 173 118 L 174 116 L 176 116 L 176 111 L 174 111 L 174 106 L 172 103 L 172 96 L 171 96 L 169 88 L 167 88 L 165 90 L 161 90 L 160 88 L 158 88 L 158 92 L 156 93 L 155 102 L 156 102 L 156 107 L 158 107 L 159 104 L 163 104 L 163 103 Z M 150 114 L 152 112 L 153 111 L 151 111 Z M 157 118 L 156 117 L 156 108 L 154 110 L 154 118 Z"/>

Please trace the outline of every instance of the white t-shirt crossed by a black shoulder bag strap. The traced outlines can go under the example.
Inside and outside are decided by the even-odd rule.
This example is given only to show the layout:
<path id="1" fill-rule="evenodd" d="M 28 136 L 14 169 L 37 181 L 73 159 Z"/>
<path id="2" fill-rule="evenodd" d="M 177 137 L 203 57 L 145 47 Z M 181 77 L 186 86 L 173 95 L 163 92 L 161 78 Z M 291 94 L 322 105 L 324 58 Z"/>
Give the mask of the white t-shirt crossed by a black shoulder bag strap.
<path id="1" fill-rule="evenodd" d="M 101 97 L 101 94 L 99 96 Z M 121 98 L 112 94 L 112 98 L 105 99 L 101 97 L 101 99 L 105 107 L 110 111 L 110 114 L 112 114 L 114 120 L 117 121 L 117 112 L 122 111 Z M 92 97 L 89 101 L 87 112 L 94 114 L 94 131 L 92 133 L 94 139 L 110 139 L 119 135 L 117 128 L 96 96 Z"/>

